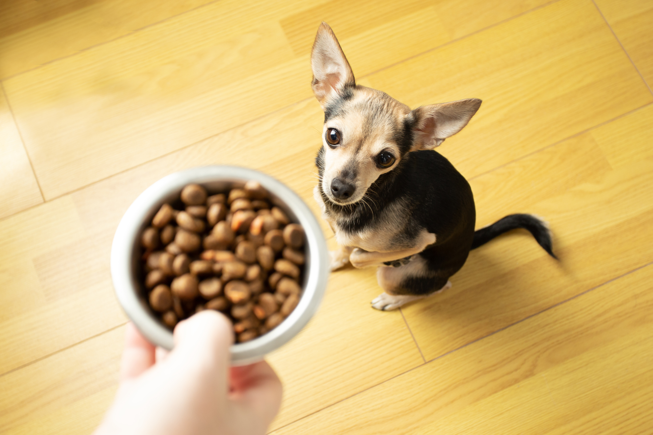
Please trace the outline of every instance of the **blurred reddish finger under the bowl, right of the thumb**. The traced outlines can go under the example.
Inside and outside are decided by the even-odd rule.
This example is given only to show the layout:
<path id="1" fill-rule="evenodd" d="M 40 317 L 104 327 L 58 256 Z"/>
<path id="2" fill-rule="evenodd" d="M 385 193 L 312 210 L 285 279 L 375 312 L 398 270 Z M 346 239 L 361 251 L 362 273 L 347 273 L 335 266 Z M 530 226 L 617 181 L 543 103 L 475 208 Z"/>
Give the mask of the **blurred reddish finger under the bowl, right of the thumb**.
<path id="1" fill-rule="evenodd" d="M 231 400 L 259 415 L 266 425 L 269 425 L 279 412 L 283 387 L 279 377 L 266 361 L 244 367 L 232 367 L 231 387 Z"/>

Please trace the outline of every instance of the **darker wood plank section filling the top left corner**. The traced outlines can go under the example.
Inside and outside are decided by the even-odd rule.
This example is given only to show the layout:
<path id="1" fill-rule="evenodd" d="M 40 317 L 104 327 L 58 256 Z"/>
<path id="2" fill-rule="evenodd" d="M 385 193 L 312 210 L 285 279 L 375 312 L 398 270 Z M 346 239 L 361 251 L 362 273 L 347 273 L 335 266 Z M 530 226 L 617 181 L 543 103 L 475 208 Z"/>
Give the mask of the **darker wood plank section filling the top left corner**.
<path id="1" fill-rule="evenodd" d="M 0 79 L 165 20 L 212 0 L 7 1 L 0 4 Z"/>

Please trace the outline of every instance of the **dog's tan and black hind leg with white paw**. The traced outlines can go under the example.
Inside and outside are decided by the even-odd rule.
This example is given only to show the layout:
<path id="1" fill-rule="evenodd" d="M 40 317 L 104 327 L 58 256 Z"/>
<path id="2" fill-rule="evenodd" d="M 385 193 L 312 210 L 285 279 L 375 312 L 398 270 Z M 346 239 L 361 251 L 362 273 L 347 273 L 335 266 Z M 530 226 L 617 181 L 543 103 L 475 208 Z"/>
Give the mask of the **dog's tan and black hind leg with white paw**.
<path id="1" fill-rule="evenodd" d="M 428 269 L 426 261 L 419 255 L 399 267 L 381 266 L 377 269 L 376 276 L 379 286 L 385 292 L 372 300 L 372 308 L 396 310 L 406 303 L 451 288 L 448 277 L 438 275 Z"/>

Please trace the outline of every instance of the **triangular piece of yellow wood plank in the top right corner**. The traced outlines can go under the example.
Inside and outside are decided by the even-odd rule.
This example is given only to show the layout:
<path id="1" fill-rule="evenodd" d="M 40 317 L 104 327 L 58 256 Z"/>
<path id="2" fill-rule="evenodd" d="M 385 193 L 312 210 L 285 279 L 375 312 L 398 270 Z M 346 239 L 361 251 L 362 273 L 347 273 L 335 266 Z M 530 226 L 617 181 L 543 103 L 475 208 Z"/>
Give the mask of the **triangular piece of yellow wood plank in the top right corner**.
<path id="1" fill-rule="evenodd" d="M 595 0 L 649 87 L 653 87 L 653 4 L 643 0 Z"/>

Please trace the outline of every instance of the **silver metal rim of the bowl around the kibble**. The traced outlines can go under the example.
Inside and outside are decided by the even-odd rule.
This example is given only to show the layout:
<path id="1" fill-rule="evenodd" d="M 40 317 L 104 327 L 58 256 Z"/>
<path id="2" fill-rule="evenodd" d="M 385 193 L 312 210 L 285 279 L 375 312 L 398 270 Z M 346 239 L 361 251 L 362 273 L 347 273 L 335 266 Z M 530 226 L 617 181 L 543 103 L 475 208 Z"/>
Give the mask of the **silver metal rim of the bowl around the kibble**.
<path id="1" fill-rule="evenodd" d="M 276 196 L 291 212 L 295 222 L 304 227 L 306 234 L 307 261 L 304 274 L 304 292 L 293 312 L 272 331 L 245 343 L 231 346 L 232 365 L 246 365 L 261 361 L 295 337 L 317 311 L 327 287 L 329 274 L 327 242 L 322 229 L 308 205 L 289 187 L 270 175 L 239 166 L 209 165 L 170 173 L 146 188 L 129 206 L 121 218 L 111 247 L 111 277 L 118 301 L 127 317 L 140 332 L 156 346 L 168 350 L 174 342 L 172 333 L 146 308 L 140 296 L 142 284 L 134 273 L 134 255 L 140 252 L 138 236 L 146 227 L 148 218 L 158 211 L 167 196 L 181 192 L 189 183 L 243 183 L 256 180 L 273 196 Z M 140 255 L 140 254 L 139 254 Z"/>

